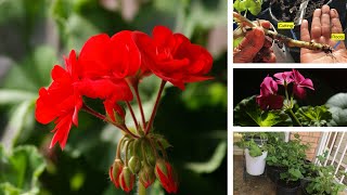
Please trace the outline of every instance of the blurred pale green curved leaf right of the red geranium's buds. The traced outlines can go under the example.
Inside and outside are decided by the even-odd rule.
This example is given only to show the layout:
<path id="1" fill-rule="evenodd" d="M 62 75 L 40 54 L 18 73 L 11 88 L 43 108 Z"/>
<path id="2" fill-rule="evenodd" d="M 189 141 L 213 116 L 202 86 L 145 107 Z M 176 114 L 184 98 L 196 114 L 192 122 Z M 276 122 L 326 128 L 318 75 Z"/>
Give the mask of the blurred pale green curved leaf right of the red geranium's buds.
<path id="1" fill-rule="evenodd" d="M 227 155 L 227 143 L 220 142 L 213 155 L 206 162 L 188 162 L 185 167 L 196 173 L 210 173 L 214 172 L 222 162 Z"/>

